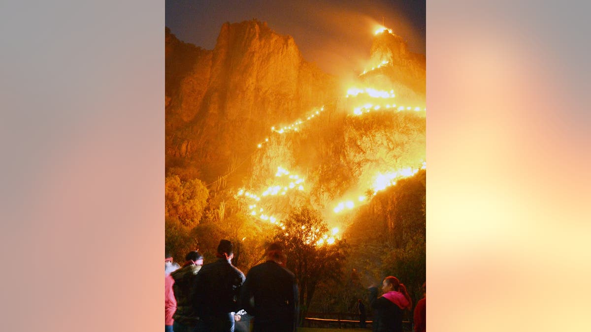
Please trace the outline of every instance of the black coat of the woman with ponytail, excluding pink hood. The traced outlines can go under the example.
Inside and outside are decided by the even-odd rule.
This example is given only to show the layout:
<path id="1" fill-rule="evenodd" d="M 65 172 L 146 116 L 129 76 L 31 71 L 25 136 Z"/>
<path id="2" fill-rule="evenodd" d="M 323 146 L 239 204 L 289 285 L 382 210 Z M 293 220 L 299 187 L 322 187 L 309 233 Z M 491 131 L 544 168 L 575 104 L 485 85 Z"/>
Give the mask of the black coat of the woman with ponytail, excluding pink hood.
<path id="1" fill-rule="evenodd" d="M 385 297 L 378 298 L 378 289 L 372 287 L 369 289 L 369 302 L 374 308 L 374 327 L 375 332 L 402 332 L 402 317 L 404 311 L 397 304 Z"/>

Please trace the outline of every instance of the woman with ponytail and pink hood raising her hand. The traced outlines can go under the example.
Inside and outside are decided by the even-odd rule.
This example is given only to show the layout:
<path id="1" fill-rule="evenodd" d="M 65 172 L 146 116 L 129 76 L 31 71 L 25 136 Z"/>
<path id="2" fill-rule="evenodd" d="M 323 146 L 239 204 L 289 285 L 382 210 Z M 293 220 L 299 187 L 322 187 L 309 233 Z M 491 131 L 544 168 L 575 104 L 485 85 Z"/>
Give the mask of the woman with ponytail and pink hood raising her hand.
<path id="1" fill-rule="evenodd" d="M 369 288 L 371 307 L 374 308 L 375 332 L 402 332 L 404 310 L 411 310 L 411 300 L 406 287 L 395 276 L 387 276 L 382 282 L 382 294 L 378 297 L 376 287 Z"/>

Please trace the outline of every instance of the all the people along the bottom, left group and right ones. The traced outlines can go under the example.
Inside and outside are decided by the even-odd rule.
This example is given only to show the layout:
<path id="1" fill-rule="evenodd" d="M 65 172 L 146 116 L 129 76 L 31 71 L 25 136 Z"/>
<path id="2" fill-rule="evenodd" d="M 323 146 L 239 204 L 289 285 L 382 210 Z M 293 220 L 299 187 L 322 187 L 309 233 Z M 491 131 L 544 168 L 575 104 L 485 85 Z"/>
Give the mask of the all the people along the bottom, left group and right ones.
<path id="1" fill-rule="evenodd" d="M 165 255 L 165 332 L 294 332 L 298 322 L 296 277 L 285 268 L 287 256 L 282 243 L 268 246 L 266 261 L 250 269 L 248 275 L 232 265 L 233 244 L 220 240 L 217 260 L 203 265 L 203 255 L 191 251 L 183 266 Z M 424 288 L 424 285 L 423 285 Z M 394 276 L 382 282 L 383 295 L 369 288 L 374 310 L 373 330 L 402 331 L 405 310 L 412 300 Z M 360 327 L 365 328 L 365 305 L 357 305 Z M 424 332 L 426 300 L 414 311 L 414 330 Z"/>

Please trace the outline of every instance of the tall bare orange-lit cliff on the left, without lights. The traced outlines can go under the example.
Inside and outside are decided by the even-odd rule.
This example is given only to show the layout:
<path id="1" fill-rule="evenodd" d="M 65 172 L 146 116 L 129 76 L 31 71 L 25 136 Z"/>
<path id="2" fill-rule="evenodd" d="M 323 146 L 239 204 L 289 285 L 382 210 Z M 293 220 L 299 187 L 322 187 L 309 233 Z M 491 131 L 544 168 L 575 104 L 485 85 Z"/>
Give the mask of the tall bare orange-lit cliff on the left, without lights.
<path id="1" fill-rule="evenodd" d="M 206 180 L 252 154 L 271 126 L 336 97 L 336 80 L 306 63 L 292 37 L 256 20 L 224 24 L 213 51 L 191 54 L 167 106 L 167 167 L 199 164 Z"/>

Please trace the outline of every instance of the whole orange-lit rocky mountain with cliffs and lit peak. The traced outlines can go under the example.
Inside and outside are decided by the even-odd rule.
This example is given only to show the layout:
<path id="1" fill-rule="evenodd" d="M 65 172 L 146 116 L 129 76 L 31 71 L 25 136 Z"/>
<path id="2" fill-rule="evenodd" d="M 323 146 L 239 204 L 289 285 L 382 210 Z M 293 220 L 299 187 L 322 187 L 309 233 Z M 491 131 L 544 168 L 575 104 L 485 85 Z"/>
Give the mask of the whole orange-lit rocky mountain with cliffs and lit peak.
<path id="1" fill-rule="evenodd" d="M 391 31 L 375 35 L 373 68 L 352 83 L 362 93 L 350 97 L 337 77 L 303 59 L 292 37 L 256 19 L 224 24 L 213 50 L 167 30 L 165 49 L 167 174 L 207 183 L 231 174 L 223 180 L 232 187 L 254 188 L 272 185 L 269 176 L 288 167 L 307 178 L 311 203 L 324 209 L 369 190 L 378 174 L 425 160 L 425 58 Z M 353 114 L 368 103 L 371 114 Z M 299 131 L 271 132 L 322 106 Z"/>

